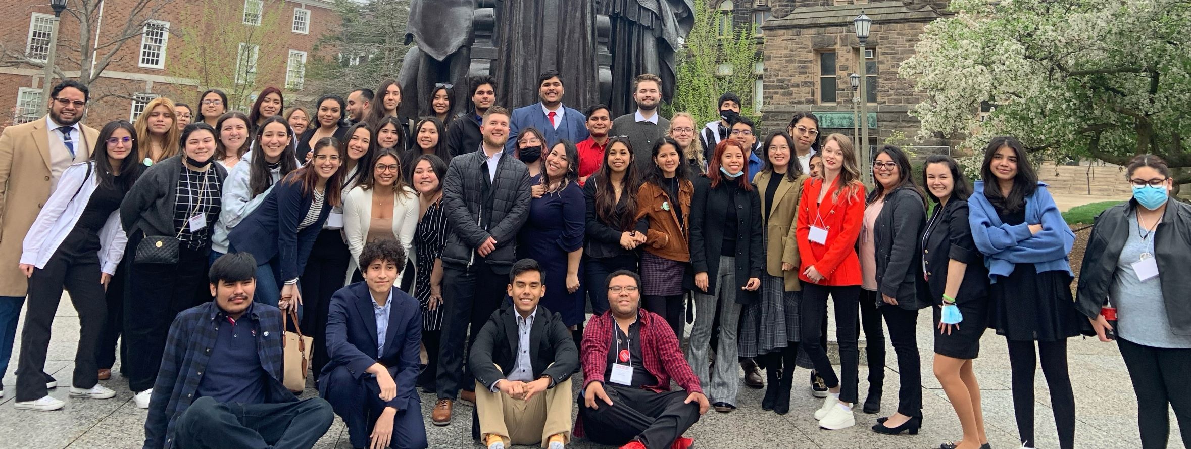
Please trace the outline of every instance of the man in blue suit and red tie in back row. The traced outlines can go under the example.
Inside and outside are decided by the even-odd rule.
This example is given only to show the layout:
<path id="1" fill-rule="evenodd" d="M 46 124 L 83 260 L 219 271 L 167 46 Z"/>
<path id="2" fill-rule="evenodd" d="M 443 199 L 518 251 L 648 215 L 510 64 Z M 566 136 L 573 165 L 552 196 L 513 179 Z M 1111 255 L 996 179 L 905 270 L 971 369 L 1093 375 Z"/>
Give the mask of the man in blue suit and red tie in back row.
<path id="1" fill-rule="evenodd" d="M 537 96 L 540 102 L 513 110 L 512 125 L 505 151 L 515 151 L 517 135 L 520 129 L 536 127 L 545 137 L 543 154 L 548 154 L 561 139 L 582 142 L 587 139 L 587 124 L 584 113 L 562 104 L 562 77 L 555 70 L 547 70 L 538 76 Z M 544 158 L 544 157 L 543 157 Z"/>

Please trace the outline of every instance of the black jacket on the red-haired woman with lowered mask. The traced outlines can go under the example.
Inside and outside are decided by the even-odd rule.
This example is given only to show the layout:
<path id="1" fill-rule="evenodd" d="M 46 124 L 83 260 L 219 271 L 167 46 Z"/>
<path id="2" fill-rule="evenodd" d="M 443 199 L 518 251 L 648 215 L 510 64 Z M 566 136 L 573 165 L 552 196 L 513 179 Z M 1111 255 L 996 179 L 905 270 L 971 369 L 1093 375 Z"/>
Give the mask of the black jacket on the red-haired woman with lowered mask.
<path id="1" fill-rule="evenodd" d="M 721 182 L 728 182 L 721 181 Z M 724 222 L 735 192 L 736 202 L 736 303 L 754 304 L 757 292 L 741 289 L 749 277 L 761 279 L 765 273 L 765 231 L 761 222 L 761 197 L 756 187 L 750 192 L 730 189 L 721 183 L 711 188 L 711 181 L 700 179 L 694 183 L 691 199 L 691 264 L 694 273 L 707 273 L 707 293 L 716 291 L 716 274 L 719 273 L 719 250 L 724 242 Z M 698 288 L 692 285 L 690 289 Z"/>

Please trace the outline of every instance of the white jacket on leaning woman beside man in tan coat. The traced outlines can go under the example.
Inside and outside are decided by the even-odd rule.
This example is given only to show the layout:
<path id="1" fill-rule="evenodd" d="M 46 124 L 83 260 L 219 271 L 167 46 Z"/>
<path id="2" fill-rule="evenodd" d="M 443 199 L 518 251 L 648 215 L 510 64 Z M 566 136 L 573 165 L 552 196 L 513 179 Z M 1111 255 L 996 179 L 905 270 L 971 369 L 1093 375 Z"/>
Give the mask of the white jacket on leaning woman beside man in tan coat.
<path id="1" fill-rule="evenodd" d="M 91 179 L 86 179 L 88 164 L 94 162 L 80 162 L 62 172 L 54 194 L 45 201 L 33 226 L 25 235 L 20 263 L 44 269 L 62 241 L 74 230 L 82 211 L 87 208 L 87 202 L 91 201 L 91 195 L 99 187 L 99 176 L 94 167 L 91 168 Z M 99 268 L 102 273 L 116 275 L 116 267 L 124 257 L 124 247 L 129 242 L 120 224 L 119 210 L 113 211 L 104 222 L 104 227 L 99 231 Z"/>

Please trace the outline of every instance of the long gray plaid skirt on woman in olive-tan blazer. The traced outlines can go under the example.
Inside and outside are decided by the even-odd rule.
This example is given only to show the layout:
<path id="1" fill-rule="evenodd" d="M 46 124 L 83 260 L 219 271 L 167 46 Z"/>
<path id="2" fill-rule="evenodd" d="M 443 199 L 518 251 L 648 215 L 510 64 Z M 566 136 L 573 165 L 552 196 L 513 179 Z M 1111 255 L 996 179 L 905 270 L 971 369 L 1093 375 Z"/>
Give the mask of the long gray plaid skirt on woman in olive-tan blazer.
<path id="1" fill-rule="evenodd" d="M 785 280 L 761 275 L 761 300 L 744 306 L 737 350 L 741 357 L 756 357 L 799 341 L 798 301 L 802 292 L 786 292 Z"/>

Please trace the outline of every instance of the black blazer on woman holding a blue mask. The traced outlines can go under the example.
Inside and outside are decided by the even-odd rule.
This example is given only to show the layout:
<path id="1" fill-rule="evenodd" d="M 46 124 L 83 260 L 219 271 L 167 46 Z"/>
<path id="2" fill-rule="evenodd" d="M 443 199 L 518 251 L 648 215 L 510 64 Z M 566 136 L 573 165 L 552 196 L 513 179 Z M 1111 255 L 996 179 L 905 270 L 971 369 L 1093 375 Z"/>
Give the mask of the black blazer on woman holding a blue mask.
<path id="1" fill-rule="evenodd" d="M 947 264 L 954 258 L 967 263 L 964 281 L 960 282 L 956 301 L 967 301 L 989 294 L 989 269 L 984 267 L 984 256 L 972 241 L 972 226 L 968 223 L 967 200 L 950 199 L 946 205 L 935 206 L 930 222 L 924 226 L 922 236 L 922 260 L 927 269 L 927 293 L 919 300 L 930 304 L 942 304 L 943 291 L 947 288 Z"/>

